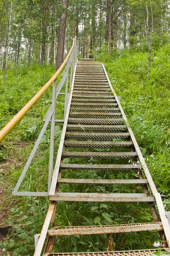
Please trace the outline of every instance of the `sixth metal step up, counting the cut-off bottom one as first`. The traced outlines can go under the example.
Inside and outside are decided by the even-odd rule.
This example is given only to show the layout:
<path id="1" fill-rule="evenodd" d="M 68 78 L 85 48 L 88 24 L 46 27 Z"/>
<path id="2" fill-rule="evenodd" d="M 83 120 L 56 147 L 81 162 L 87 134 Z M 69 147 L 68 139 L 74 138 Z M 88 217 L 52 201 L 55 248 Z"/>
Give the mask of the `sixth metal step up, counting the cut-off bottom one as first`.
<path id="1" fill-rule="evenodd" d="M 71 152 L 63 151 L 62 157 L 70 158 L 107 158 L 107 159 L 119 159 L 119 158 L 136 158 L 136 152 Z"/>

